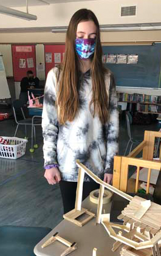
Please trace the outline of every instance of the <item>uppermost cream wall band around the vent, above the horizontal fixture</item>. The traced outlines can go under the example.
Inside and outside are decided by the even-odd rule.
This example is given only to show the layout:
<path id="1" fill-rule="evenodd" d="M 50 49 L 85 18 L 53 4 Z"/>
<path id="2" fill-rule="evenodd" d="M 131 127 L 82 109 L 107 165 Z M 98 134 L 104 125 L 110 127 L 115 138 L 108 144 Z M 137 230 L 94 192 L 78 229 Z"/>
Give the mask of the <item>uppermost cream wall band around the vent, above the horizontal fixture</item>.
<path id="1" fill-rule="evenodd" d="M 121 17 L 121 7 L 129 5 L 137 5 L 137 15 Z M 161 1 L 100 0 L 33 6 L 29 7 L 29 12 L 38 16 L 36 21 L 26 21 L 0 15 L 1 28 L 67 26 L 74 12 L 81 8 L 91 9 L 100 24 L 160 22 Z M 25 7 L 15 9 L 26 12 Z"/>

